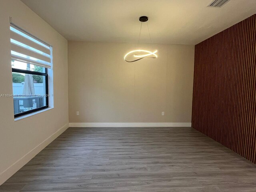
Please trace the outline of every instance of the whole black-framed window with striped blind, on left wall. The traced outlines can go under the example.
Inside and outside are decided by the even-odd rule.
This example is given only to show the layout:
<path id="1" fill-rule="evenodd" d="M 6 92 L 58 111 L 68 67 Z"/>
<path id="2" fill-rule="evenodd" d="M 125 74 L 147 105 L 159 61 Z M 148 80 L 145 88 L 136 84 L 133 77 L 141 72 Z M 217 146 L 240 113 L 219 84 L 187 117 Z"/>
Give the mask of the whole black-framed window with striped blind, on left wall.
<path id="1" fill-rule="evenodd" d="M 49 106 L 48 73 L 52 47 L 10 24 L 14 118 Z"/>

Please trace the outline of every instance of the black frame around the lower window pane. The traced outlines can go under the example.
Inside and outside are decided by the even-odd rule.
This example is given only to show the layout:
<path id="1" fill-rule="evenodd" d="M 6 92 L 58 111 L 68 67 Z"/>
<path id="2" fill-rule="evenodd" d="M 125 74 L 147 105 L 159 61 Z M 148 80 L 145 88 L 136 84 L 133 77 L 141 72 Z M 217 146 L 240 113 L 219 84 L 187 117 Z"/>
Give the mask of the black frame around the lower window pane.
<path id="1" fill-rule="evenodd" d="M 20 116 L 24 116 L 24 115 L 27 115 L 27 114 L 31 114 L 31 113 L 34 113 L 34 112 L 37 112 L 37 111 L 40 111 L 40 110 L 43 110 L 43 109 L 46 109 L 46 108 L 49 107 L 49 98 L 48 98 L 48 95 L 49 95 L 49 91 L 48 91 L 48 69 L 47 68 L 45 68 L 45 73 L 44 72 L 36 72 L 36 71 L 28 71 L 28 70 L 16 69 L 16 68 L 12 68 L 12 72 L 45 76 L 45 89 L 46 89 L 45 90 L 45 92 L 46 92 L 46 106 L 39 107 L 39 108 L 36 108 L 36 109 L 32 109 L 32 110 L 25 111 L 25 112 L 21 112 L 21 113 L 18 113 L 18 114 L 14 114 L 14 118 L 17 118 L 17 117 L 20 117 Z"/>

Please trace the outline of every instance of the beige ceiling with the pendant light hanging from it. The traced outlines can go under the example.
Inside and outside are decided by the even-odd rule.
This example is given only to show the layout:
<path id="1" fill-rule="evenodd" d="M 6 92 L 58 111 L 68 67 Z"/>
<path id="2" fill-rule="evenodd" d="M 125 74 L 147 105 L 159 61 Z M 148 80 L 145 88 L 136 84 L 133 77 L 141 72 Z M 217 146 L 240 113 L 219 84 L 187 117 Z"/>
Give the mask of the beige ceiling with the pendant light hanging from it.
<path id="1" fill-rule="evenodd" d="M 198 44 L 256 13 L 256 0 L 22 0 L 68 40 L 138 42 L 148 16 L 152 43 Z M 146 23 L 142 43 L 151 43 Z"/>

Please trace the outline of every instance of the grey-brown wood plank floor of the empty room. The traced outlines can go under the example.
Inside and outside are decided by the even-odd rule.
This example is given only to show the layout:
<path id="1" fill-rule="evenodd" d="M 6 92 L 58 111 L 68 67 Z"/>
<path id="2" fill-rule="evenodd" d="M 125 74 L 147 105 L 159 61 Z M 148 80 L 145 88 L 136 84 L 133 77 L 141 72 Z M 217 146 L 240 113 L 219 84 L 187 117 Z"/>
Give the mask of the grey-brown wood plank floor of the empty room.
<path id="1" fill-rule="evenodd" d="M 68 128 L 0 191 L 256 192 L 256 165 L 193 128 Z"/>

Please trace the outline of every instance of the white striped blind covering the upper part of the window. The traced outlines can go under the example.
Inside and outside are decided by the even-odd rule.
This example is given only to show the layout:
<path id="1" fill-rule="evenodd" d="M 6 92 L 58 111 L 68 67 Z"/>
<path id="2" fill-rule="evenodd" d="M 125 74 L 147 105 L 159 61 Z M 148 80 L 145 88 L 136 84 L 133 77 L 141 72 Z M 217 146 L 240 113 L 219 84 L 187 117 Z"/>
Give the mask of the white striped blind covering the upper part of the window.
<path id="1" fill-rule="evenodd" d="M 12 60 L 51 68 L 52 49 L 49 44 L 14 24 L 10 24 L 10 35 Z"/>

